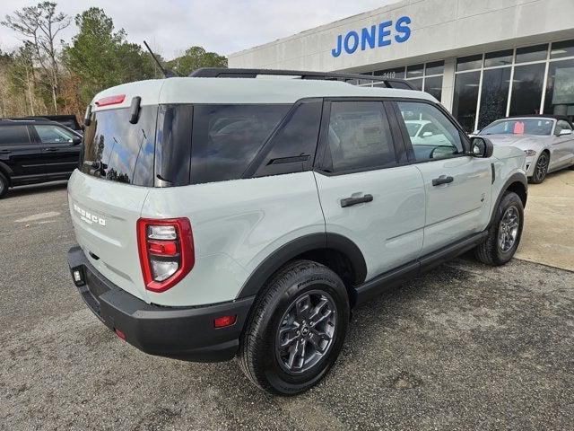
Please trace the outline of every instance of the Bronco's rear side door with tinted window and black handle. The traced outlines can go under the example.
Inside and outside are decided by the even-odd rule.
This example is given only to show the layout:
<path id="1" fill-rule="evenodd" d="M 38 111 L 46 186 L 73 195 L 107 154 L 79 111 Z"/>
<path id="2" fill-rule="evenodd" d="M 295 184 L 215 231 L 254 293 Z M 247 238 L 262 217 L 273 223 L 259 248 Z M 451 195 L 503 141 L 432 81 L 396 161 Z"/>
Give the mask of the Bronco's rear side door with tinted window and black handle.
<path id="1" fill-rule="evenodd" d="M 422 175 L 396 145 L 383 101 L 326 101 L 315 178 L 327 233 L 352 240 L 367 279 L 416 259 L 422 249 Z"/>

